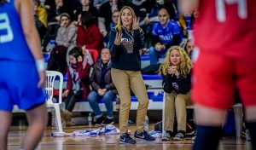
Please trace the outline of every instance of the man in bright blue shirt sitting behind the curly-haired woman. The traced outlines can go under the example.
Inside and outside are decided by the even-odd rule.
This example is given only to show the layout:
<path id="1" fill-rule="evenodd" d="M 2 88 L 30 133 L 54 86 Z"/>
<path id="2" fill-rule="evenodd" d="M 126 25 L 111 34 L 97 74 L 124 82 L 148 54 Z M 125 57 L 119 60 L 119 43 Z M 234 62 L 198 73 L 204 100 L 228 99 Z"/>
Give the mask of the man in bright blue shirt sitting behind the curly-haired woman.
<path id="1" fill-rule="evenodd" d="M 155 23 L 152 30 L 152 45 L 149 49 L 150 65 L 157 65 L 159 58 L 164 58 L 172 45 L 178 45 L 180 26 L 176 21 L 169 19 L 166 9 L 160 9 L 159 22 Z"/>

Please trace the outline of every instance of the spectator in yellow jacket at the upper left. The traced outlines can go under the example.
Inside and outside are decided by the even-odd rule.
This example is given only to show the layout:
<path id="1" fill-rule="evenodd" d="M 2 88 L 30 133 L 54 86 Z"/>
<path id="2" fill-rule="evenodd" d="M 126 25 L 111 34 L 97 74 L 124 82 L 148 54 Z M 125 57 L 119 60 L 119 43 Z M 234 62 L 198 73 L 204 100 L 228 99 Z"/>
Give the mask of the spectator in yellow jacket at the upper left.
<path id="1" fill-rule="evenodd" d="M 36 26 L 38 29 L 39 36 L 41 40 L 44 38 L 44 34 L 46 32 L 46 27 L 47 27 L 47 10 L 40 4 L 39 0 L 34 0 L 34 19 L 36 21 Z"/>

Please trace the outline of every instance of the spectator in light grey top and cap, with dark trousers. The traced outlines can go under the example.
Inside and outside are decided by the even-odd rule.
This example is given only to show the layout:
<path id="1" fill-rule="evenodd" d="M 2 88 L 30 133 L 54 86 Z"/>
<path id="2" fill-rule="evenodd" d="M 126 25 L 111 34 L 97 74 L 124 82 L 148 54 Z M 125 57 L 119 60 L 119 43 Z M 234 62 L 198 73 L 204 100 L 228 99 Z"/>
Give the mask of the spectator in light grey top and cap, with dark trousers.
<path id="1" fill-rule="evenodd" d="M 61 14 L 60 28 L 55 39 L 56 46 L 52 50 L 48 62 L 48 70 L 66 73 L 68 52 L 76 47 L 77 27 L 70 24 L 70 16 Z"/>

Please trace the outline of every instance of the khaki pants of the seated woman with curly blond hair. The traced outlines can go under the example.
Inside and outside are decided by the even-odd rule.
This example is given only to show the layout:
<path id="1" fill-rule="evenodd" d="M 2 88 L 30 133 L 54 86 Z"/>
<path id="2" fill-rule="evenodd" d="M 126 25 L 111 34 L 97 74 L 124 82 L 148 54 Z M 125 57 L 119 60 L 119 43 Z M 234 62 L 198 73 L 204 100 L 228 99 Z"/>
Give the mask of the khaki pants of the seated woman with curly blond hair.
<path id="1" fill-rule="evenodd" d="M 186 106 L 192 105 L 190 91 L 186 95 L 166 93 L 165 129 L 173 131 L 175 112 L 177 116 L 177 130 L 186 131 Z"/>

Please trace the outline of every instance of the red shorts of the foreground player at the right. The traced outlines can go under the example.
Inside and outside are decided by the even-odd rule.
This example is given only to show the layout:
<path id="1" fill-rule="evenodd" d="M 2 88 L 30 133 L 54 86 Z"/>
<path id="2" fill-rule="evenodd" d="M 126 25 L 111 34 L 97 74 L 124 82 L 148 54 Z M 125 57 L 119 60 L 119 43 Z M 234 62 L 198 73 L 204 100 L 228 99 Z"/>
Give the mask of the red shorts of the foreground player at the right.
<path id="1" fill-rule="evenodd" d="M 192 78 L 195 104 L 228 109 L 234 104 L 237 88 L 245 107 L 256 106 L 256 58 L 252 59 L 256 51 L 252 56 L 245 55 L 244 49 L 237 50 L 241 50 L 241 55 L 221 55 L 200 50 Z"/>

